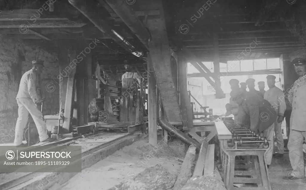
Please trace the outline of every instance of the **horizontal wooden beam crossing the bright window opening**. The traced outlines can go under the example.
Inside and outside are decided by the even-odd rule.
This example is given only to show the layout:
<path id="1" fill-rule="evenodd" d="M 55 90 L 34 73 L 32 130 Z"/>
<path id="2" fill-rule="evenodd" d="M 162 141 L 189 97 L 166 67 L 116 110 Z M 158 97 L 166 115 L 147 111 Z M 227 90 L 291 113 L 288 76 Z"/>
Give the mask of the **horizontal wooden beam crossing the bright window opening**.
<path id="1" fill-rule="evenodd" d="M 238 71 L 238 72 L 221 72 L 221 76 L 241 76 L 241 75 L 265 75 L 265 74 L 280 74 L 282 73 L 281 69 L 267 69 L 267 70 L 257 70 L 257 71 Z M 218 76 L 217 73 L 207 74 L 208 76 Z M 188 73 L 187 77 L 203 77 L 202 73 Z"/>

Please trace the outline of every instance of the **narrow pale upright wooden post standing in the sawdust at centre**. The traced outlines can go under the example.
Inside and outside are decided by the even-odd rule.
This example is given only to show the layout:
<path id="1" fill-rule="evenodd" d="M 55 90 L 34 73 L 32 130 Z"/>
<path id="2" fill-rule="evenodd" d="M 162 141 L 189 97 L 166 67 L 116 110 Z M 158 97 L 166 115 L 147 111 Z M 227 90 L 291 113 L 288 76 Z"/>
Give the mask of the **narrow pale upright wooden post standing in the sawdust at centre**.
<path id="1" fill-rule="evenodd" d="M 148 119 L 149 119 L 149 143 L 157 146 L 157 103 L 156 103 L 156 80 L 154 70 L 150 68 L 151 56 L 148 55 Z"/>

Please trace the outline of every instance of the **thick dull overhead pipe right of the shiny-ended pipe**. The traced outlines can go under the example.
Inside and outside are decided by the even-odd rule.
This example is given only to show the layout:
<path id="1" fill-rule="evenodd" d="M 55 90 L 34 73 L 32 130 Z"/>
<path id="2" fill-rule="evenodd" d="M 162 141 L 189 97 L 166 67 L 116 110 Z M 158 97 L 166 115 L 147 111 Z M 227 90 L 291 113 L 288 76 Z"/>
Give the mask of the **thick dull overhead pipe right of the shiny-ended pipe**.
<path id="1" fill-rule="evenodd" d="M 114 10 L 114 12 L 148 49 L 150 34 L 144 25 L 140 22 L 138 17 L 134 15 L 131 9 L 132 6 L 129 5 L 126 0 L 99 0 L 99 2 L 103 1 L 105 1 Z M 103 6 L 105 5 L 103 4 Z"/>

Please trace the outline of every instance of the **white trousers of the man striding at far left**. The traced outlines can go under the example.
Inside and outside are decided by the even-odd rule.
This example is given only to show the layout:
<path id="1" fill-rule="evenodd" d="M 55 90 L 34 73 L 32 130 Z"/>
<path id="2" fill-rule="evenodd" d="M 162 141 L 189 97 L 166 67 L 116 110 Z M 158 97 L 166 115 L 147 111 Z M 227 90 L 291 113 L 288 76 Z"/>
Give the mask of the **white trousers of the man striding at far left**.
<path id="1" fill-rule="evenodd" d="M 29 113 L 31 114 L 35 122 L 39 134 L 39 140 L 40 141 L 47 140 L 48 132 L 47 132 L 46 122 L 43 119 L 43 114 L 41 113 L 40 110 L 38 110 L 35 107 L 35 104 L 32 101 L 32 99 L 18 98 L 17 104 L 18 104 L 18 119 L 15 128 L 14 145 L 18 146 L 22 144 L 24 128 L 27 125 Z"/>

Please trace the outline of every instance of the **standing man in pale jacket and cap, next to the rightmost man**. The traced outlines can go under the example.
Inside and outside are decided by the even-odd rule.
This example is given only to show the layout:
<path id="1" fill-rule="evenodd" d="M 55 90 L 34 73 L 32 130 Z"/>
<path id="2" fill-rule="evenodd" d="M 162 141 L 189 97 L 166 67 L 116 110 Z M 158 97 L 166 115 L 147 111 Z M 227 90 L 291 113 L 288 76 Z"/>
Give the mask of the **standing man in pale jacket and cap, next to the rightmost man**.
<path id="1" fill-rule="evenodd" d="M 263 132 L 263 135 L 267 138 L 267 140 L 271 140 L 271 149 L 266 152 L 265 159 L 266 164 L 270 166 L 272 161 L 272 155 L 274 153 L 274 131 L 277 140 L 277 149 L 278 153 L 276 158 L 282 158 L 284 155 L 284 140 L 282 136 L 282 122 L 284 120 L 284 112 L 286 110 L 285 103 L 285 95 L 282 90 L 275 86 L 275 76 L 268 75 L 267 76 L 267 84 L 269 90 L 267 90 L 264 94 L 264 99 L 267 100 L 272 108 L 275 110 L 277 114 L 276 121 Z"/>

